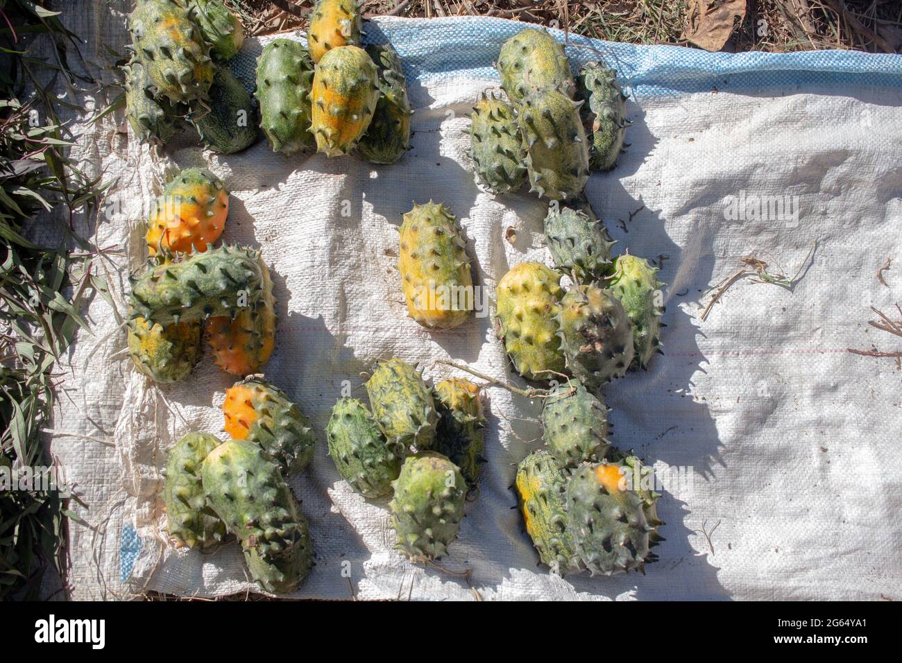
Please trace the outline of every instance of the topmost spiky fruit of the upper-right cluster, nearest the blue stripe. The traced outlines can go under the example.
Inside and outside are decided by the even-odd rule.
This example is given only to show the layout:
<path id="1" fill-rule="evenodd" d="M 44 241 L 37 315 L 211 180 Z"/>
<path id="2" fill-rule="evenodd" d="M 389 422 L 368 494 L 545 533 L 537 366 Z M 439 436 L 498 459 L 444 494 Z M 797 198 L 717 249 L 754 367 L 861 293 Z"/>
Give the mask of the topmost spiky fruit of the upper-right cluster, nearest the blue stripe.
<path id="1" fill-rule="evenodd" d="M 496 66 L 514 106 L 537 89 L 557 89 L 570 98 L 575 94 L 564 47 L 544 29 L 527 28 L 505 41 Z"/>

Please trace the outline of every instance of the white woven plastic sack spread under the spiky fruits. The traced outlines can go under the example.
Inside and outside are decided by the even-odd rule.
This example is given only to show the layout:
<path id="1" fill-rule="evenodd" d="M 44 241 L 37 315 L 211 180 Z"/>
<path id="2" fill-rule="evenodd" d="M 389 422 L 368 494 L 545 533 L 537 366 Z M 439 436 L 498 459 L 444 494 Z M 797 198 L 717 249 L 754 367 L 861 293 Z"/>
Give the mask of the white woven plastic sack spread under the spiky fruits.
<path id="1" fill-rule="evenodd" d="M 106 46 L 122 51 L 127 42 L 124 14 L 106 3 L 71 5 L 63 18 L 87 39 L 87 66 L 108 78 L 99 65 Z M 561 579 L 537 566 L 509 486 L 514 465 L 541 445 L 540 403 L 502 389 L 487 390 L 489 463 L 441 560 L 446 570 L 411 566 L 392 550 L 385 502 L 364 501 L 337 474 L 323 434 L 329 412 L 344 381 L 364 396 L 359 373 L 376 358 L 419 362 L 436 381 L 456 374 L 437 359 L 515 377 L 490 318 L 445 333 L 407 318 L 394 264 L 400 215 L 430 198 L 462 219 L 477 282 L 492 293 L 513 265 L 548 262 L 546 204 L 481 191 L 467 156 L 465 114 L 498 85 L 492 62 L 524 27 L 481 18 L 368 24 L 368 40 L 391 41 L 404 59 L 416 110 L 413 148 L 392 166 L 285 157 L 265 142 L 218 156 L 187 140 L 155 159 L 124 133 L 121 114 L 97 124 L 73 117 L 87 170 L 118 178 L 113 213 L 97 226 L 98 245 L 124 250 L 104 262 L 118 316 L 167 169 L 206 164 L 225 180 L 224 240 L 262 247 L 271 266 L 280 327 L 265 373 L 319 436 L 313 465 L 291 482 L 317 558 L 296 595 L 899 599 L 900 373 L 891 360 L 847 352 L 898 340 L 867 325 L 871 305 L 892 314 L 902 292 L 897 263 L 883 272 L 887 286 L 877 278 L 888 258 L 900 258 L 897 57 L 711 54 L 570 37 L 574 66 L 603 57 L 630 92 L 629 152 L 593 175 L 587 195 L 616 252 L 659 259 L 668 284 L 667 354 L 606 390 L 614 443 L 662 477 L 667 540 L 646 576 Z M 249 82 L 261 42 L 248 41 L 235 61 Z M 88 88 L 77 101 L 89 113 L 103 106 Z M 784 213 L 769 215 L 765 204 L 756 215 L 761 197 L 786 200 Z M 795 287 L 743 279 L 701 321 L 704 290 L 751 253 L 770 272 L 800 269 Z M 207 556 L 172 548 L 159 498 L 166 450 L 189 431 L 221 429 L 218 406 L 233 379 L 207 358 L 189 382 L 152 386 L 123 355 L 106 302 L 96 298 L 87 314 L 96 333 L 79 334 L 63 364 L 68 391 L 52 440 L 89 505 L 79 513 L 91 528 L 72 527 L 74 595 L 253 590 L 236 545 Z"/>

